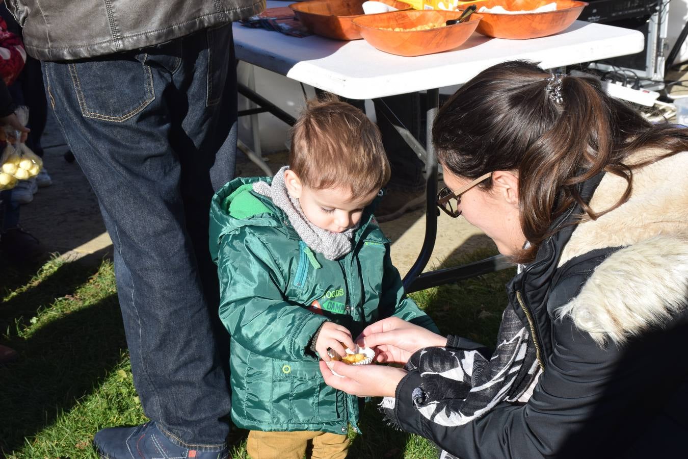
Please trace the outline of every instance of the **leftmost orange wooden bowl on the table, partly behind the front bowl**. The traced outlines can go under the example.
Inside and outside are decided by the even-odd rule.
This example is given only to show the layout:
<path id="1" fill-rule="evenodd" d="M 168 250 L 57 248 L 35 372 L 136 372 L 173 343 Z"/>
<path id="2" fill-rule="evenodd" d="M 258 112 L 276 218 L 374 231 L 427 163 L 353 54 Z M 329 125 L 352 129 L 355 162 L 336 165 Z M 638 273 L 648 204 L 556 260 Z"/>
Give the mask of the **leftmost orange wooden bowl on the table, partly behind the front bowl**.
<path id="1" fill-rule="evenodd" d="M 378 1 L 397 10 L 411 10 L 411 5 L 402 1 Z M 351 21 L 359 16 L 365 16 L 363 2 L 365 0 L 308 0 L 292 3 L 289 8 L 294 11 L 297 19 L 316 35 L 335 40 L 358 40 L 363 37 Z"/>

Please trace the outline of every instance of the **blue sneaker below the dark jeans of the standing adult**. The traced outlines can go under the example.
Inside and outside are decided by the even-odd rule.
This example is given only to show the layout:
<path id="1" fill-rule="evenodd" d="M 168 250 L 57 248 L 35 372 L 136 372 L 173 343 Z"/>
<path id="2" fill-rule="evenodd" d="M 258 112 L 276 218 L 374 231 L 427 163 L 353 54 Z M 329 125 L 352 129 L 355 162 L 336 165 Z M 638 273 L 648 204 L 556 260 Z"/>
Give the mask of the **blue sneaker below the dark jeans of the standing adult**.
<path id="1" fill-rule="evenodd" d="M 200 451 L 176 445 L 152 421 L 99 431 L 93 445 L 100 459 L 228 459 L 229 450 Z"/>

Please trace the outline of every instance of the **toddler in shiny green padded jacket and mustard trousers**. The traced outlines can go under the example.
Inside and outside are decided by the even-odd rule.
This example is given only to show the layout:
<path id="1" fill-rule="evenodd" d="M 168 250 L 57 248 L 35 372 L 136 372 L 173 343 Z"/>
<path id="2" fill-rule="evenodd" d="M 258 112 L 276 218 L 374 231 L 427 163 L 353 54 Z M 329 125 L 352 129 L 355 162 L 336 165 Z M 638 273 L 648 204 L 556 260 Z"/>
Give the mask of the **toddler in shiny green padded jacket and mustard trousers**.
<path id="1" fill-rule="evenodd" d="M 232 419 L 253 459 L 301 459 L 309 444 L 345 458 L 358 398 L 327 386 L 319 359 L 384 317 L 437 329 L 406 297 L 372 213 L 389 180 L 378 128 L 330 98 L 310 101 L 291 135 L 288 167 L 232 180 L 211 207 Z"/>

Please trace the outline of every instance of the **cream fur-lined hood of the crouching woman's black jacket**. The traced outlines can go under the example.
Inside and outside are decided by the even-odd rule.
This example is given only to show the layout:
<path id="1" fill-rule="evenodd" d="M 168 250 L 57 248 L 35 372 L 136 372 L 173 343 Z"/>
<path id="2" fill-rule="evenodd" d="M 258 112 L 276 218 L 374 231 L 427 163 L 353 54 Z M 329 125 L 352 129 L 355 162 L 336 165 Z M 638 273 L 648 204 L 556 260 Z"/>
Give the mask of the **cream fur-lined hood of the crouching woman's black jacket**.
<path id="1" fill-rule="evenodd" d="M 639 162 L 662 151 L 642 151 Z M 579 295 L 557 310 L 568 314 L 596 341 L 623 343 L 662 326 L 686 308 L 688 299 L 688 152 L 633 171 L 632 195 L 614 211 L 577 225 L 559 266 L 606 247 L 621 246 L 596 267 Z M 608 209 L 626 181 L 605 174 L 590 207 Z"/>

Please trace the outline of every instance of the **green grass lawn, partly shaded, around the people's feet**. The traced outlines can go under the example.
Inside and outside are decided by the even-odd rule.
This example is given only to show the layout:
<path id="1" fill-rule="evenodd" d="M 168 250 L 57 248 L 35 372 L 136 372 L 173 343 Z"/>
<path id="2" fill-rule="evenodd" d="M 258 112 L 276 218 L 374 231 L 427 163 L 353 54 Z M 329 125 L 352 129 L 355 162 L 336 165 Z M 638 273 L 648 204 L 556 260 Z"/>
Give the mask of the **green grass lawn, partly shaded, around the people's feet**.
<path id="1" fill-rule="evenodd" d="M 478 250 L 458 263 L 493 255 Z M 412 296 L 444 334 L 494 345 L 513 270 Z M 0 268 L 0 343 L 20 354 L 0 367 L 0 458 L 94 458 L 102 427 L 146 418 L 133 388 L 111 261 L 100 266 L 53 259 L 37 270 Z M 430 442 L 385 426 L 367 404 L 352 436 L 352 458 L 436 458 Z M 246 455 L 246 431 L 230 435 L 232 457 Z"/>

